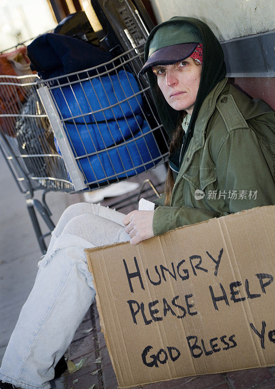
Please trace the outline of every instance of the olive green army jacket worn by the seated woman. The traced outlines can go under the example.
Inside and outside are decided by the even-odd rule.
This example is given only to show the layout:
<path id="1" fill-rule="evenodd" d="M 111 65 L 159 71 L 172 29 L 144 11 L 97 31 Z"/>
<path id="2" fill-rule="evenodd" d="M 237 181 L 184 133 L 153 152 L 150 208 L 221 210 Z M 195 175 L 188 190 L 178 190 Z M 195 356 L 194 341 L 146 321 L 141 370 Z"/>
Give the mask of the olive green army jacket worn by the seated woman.
<path id="1" fill-rule="evenodd" d="M 154 235 L 275 204 L 274 123 L 266 103 L 221 80 L 199 110 L 170 206 L 154 212 Z"/>

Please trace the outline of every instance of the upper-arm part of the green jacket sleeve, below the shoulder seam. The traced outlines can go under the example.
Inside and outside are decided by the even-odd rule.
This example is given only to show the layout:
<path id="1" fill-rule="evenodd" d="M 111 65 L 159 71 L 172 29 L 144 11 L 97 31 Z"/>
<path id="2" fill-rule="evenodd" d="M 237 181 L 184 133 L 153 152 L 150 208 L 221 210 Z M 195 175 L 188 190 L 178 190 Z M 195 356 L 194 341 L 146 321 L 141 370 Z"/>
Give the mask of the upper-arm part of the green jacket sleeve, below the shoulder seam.
<path id="1" fill-rule="evenodd" d="M 230 213 L 275 204 L 274 155 L 254 130 L 239 128 L 228 134 L 220 147 L 216 169 Z"/>

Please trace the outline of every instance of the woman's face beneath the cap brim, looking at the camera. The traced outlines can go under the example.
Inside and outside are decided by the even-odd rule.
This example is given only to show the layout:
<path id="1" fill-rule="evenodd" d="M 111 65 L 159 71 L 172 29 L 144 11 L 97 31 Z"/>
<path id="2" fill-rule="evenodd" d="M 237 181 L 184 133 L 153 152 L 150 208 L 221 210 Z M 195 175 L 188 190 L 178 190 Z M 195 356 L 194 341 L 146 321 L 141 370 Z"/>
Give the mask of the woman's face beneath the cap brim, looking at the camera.
<path id="1" fill-rule="evenodd" d="M 192 115 L 200 86 L 202 65 L 188 57 L 173 65 L 156 65 L 153 72 L 169 106 L 177 111 L 185 109 Z"/>

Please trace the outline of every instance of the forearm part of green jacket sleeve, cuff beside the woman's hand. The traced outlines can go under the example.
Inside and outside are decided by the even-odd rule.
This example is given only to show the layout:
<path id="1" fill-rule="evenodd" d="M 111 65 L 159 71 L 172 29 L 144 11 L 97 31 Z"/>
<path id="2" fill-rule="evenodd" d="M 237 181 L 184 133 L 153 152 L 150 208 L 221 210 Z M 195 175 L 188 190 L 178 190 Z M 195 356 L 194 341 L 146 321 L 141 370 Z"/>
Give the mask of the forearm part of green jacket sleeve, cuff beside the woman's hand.
<path id="1" fill-rule="evenodd" d="M 175 228 L 200 223 L 219 216 L 221 216 L 220 212 L 200 208 L 159 206 L 154 212 L 153 232 L 155 236 L 162 235 Z"/>

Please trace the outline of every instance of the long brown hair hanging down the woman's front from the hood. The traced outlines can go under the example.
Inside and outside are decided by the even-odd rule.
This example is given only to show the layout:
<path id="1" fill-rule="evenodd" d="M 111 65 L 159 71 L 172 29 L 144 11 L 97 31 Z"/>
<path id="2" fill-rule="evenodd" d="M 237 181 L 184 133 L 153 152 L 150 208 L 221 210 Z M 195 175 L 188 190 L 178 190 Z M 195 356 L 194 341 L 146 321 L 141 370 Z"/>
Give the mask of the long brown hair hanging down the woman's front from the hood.
<path id="1" fill-rule="evenodd" d="M 169 154 L 172 154 L 177 148 L 181 147 L 183 142 L 183 119 L 186 116 L 186 111 L 181 111 L 178 117 L 178 121 L 176 123 L 175 131 L 173 132 L 173 136 L 169 145 Z M 170 205 L 171 195 L 173 191 L 173 187 L 175 184 L 173 170 L 168 166 L 166 181 L 165 181 L 165 204 Z"/>

